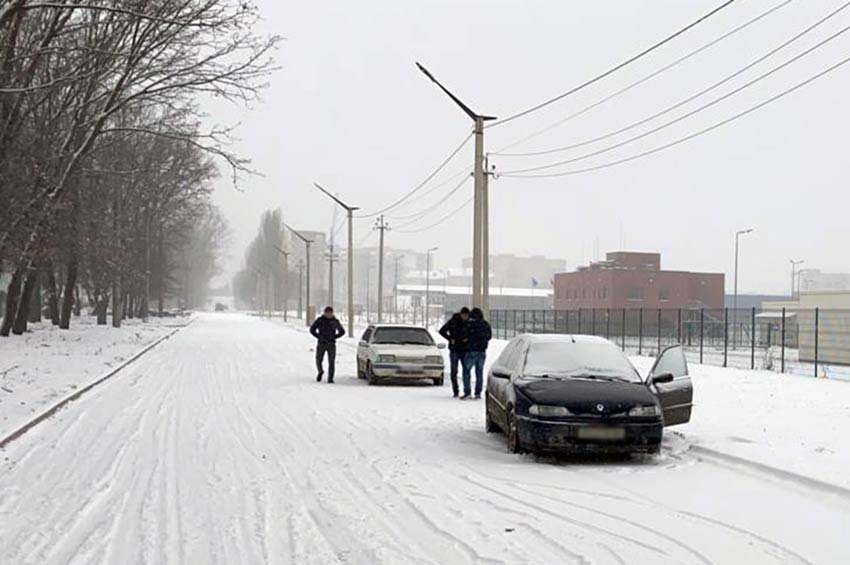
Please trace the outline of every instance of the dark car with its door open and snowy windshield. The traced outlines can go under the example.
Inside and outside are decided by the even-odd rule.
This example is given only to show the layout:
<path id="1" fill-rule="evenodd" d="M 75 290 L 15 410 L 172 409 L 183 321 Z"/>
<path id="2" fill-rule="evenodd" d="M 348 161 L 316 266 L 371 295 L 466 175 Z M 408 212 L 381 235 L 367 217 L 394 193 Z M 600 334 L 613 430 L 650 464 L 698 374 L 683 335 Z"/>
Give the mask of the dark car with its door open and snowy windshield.
<path id="1" fill-rule="evenodd" d="M 486 428 L 513 453 L 658 453 L 665 426 L 691 418 L 693 384 L 680 346 L 643 379 L 610 341 L 581 335 L 512 339 L 487 378 Z"/>

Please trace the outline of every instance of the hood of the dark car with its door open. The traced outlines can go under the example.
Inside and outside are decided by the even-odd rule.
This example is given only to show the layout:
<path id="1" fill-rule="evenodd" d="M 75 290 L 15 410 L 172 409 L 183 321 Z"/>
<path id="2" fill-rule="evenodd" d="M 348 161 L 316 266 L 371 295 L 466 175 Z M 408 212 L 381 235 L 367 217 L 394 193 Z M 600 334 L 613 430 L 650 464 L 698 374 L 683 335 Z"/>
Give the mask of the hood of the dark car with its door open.
<path id="1" fill-rule="evenodd" d="M 514 386 L 535 404 L 564 406 L 573 414 L 619 414 L 635 406 L 658 403 L 643 383 L 521 378 Z"/>

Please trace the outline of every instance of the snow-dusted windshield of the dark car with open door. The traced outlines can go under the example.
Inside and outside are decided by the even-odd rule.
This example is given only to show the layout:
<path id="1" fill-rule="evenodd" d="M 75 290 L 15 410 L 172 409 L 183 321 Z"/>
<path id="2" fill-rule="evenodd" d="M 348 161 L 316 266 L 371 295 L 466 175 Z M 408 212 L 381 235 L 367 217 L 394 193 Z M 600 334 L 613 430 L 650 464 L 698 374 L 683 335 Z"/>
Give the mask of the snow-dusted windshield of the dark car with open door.
<path id="1" fill-rule="evenodd" d="M 529 376 L 642 382 L 628 357 L 616 345 L 606 341 L 532 343 L 524 373 Z"/>

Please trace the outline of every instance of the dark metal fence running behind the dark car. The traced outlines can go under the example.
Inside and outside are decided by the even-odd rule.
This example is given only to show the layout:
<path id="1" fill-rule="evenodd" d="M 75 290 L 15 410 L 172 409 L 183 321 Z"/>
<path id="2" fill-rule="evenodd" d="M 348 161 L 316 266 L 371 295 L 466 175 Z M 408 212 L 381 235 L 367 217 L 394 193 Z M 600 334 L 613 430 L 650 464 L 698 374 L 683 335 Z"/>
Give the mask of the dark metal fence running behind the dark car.
<path id="1" fill-rule="evenodd" d="M 850 380 L 850 310 L 492 310 L 490 323 L 504 339 L 596 335 L 649 356 L 681 344 L 695 363 Z"/>

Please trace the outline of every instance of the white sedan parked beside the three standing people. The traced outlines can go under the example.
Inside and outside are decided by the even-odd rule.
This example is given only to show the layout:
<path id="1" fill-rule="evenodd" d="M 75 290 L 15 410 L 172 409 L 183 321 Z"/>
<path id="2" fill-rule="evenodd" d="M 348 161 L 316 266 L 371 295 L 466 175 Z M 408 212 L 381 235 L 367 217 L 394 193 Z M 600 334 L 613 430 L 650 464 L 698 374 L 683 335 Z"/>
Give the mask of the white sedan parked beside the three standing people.
<path id="1" fill-rule="evenodd" d="M 444 348 L 421 326 L 371 325 L 357 346 L 357 376 L 370 385 L 385 379 L 430 379 L 442 386 Z"/>

